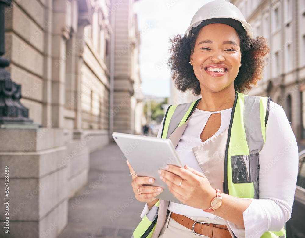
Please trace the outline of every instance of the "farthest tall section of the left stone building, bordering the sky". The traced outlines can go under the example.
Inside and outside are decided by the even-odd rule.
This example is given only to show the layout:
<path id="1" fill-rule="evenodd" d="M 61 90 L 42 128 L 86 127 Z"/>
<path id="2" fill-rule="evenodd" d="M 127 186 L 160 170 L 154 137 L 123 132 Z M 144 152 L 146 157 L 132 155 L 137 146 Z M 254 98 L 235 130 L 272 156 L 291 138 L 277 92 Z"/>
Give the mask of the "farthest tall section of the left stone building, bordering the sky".
<path id="1" fill-rule="evenodd" d="M 143 94 L 139 70 L 139 45 L 141 32 L 137 28 L 137 17 L 131 12 L 134 0 L 113 0 L 116 11 L 110 21 L 114 34 L 113 106 L 110 111 L 111 130 L 141 134 Z M 130 29 L 131 31 L 128 29 Z M 143 29 L 142 31 L 145 31 Z"/>

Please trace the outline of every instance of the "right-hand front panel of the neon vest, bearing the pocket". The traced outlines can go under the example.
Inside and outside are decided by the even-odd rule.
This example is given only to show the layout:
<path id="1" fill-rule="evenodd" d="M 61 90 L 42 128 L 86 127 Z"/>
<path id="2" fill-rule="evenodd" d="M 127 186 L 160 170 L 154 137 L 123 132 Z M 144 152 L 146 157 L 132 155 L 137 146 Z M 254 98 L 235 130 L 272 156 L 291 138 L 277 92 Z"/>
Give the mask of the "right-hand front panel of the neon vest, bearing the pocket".
<path id="1" fill-rule="evenodd" d="M 259 152 L 265 142 L 268 100 L 242 93 L 237 95 L 233 107 L 233 121 L 231 118 L 229 128 L 229 144 L 226 148 L 226 192 L 235 197 L 258 199 Z"/>

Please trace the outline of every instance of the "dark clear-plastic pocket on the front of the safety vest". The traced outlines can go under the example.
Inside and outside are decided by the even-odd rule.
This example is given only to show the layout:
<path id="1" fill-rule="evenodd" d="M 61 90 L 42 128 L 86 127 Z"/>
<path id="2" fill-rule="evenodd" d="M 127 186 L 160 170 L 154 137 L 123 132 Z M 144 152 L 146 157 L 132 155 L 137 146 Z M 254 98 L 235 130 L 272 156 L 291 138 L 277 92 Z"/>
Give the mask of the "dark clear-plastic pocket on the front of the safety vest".
<path id="1" fill-rule="evenodd" d="M 234 155 L 231 157 L 231 165 L 233 183 L 252 183 L 259 179 L 259 153 Z"/>

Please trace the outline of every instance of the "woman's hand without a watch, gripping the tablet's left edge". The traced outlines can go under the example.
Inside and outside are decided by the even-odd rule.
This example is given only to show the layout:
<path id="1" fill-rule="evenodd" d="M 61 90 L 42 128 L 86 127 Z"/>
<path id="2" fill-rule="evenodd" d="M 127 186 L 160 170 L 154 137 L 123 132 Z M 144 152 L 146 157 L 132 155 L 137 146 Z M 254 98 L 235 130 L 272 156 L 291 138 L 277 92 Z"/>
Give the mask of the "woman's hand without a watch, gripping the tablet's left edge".
<path id="1" fill-rule="evenodd" d="M 153 186 L 143 186 L 143 184 L 153 183 L 155 180 L 149 177 L 138 177 L 129 164 L 128 160 L 126 160 L 127 165 L 129 167 L 130 173 L 132 176 L 131 186 L 135 193 L 135 198 L 140 202 L 145 202 L 148 205 L 148 208 L 151 209 L 153 205 L 157 203 L 159 200 L 156 197 L 163 191 L 163 188 L 153 187 Z"/>

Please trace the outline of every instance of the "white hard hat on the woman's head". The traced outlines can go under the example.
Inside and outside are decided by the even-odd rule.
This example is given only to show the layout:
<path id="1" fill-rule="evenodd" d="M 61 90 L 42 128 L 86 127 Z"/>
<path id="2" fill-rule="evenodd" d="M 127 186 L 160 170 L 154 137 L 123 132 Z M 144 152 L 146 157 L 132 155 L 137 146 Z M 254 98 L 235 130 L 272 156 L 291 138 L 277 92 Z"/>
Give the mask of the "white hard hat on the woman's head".
<path id="1" fill-rule="evenodd" d="M 192 36 L 195 27 L 200 24 L 201 26 L 198 28 L 213 23 L 227 24 L 237 30 L 245 30 L 247 35 L 252 38 L 252 27 L 246 22 L 241 11 L 232 3 L 224 0 L 215 0 L 199 8 L 184 35 Z"/>

